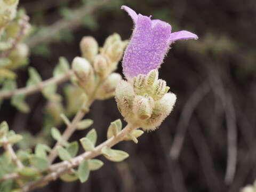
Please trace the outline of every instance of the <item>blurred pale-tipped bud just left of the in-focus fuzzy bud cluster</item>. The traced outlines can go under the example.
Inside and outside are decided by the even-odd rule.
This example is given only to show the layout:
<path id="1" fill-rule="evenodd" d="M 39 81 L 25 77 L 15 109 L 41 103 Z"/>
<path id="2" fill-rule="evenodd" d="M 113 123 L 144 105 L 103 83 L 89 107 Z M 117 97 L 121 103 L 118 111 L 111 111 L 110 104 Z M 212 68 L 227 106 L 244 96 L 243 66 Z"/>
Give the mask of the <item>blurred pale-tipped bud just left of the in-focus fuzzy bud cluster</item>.
<path id="1" fill-rule="evenodd" d="M 116 86 L 121 80 L 122 76 L 120 74 L 113 73 L 109 75 L 106 81 L 99 87 L 96 98 L 99 100 L 105 100 L 114 97 Z"/>

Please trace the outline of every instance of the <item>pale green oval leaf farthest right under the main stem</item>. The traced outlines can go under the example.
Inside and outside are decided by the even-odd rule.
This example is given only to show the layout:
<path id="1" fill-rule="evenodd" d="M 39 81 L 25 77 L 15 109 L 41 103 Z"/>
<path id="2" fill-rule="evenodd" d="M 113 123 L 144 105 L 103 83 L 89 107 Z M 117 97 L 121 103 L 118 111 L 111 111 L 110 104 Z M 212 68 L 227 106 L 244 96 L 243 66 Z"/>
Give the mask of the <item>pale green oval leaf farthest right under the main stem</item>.
<path id="1" fill-rule="evenodd" d="M 103 147 L 101 149 L 102 154 L 113 162 L 121 162 L 127 157 L 129 157 L 129 154 L 127 154 L 125 151 L 122 150 L 114 150 L 107 146 Z"/>

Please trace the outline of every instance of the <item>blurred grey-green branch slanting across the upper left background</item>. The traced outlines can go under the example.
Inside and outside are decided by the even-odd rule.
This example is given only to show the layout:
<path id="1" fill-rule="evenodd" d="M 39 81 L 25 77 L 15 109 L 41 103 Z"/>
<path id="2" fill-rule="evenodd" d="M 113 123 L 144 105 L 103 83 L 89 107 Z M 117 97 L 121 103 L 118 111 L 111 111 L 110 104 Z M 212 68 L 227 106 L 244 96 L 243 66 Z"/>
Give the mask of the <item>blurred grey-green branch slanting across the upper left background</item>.
<path id="1" fill-rule="evenodd" d="M 80 9 L 73 11 L 72 18 L 63 18 L 53 23 L 51 26 L 46 27 L 44 30 L 38 31 L 37 34 L 29 39 L 28 46 L 32 48 L 39 43 L 50 43 L 63 29 L 75 30 L 81 25 L 81 21 L 87 14 L 91 14 L 107 1 L 108 0 L 92 1 L 90 5 L 86 4 Z M 45 33 L 45 31 L 48 32 Z"/>

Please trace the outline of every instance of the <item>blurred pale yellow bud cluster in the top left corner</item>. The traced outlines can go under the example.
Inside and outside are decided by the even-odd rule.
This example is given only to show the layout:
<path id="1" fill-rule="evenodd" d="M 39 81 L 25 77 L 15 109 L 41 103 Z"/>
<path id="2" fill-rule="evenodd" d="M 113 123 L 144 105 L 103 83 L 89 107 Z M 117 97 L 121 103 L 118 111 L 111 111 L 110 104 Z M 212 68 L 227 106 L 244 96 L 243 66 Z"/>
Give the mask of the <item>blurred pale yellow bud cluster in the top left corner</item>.
<path id="1" fill-rule="evenodd" d="M 9 21 L 15 18 L 18 3 L 19 0 L 0 1 L 0 30 L 3 29 Z"/>

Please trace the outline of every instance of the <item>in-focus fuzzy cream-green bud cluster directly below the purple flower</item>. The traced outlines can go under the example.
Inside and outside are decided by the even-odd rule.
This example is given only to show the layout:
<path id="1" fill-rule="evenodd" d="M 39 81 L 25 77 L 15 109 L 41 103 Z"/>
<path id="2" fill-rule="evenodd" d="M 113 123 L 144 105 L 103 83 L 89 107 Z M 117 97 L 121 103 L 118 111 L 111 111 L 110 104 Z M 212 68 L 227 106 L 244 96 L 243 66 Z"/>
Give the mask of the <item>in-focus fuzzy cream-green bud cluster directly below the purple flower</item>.
<path id="1" fill-rule="evenodd" d="M 138 75 L 132 81 L 121 81 L 116 87 L 117 106 L 125 120 L 141 126 L 145 131 L 155 130 L 171 113 L 176 95 L 158 79 L 158 71 Z"/>

